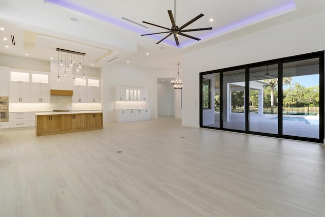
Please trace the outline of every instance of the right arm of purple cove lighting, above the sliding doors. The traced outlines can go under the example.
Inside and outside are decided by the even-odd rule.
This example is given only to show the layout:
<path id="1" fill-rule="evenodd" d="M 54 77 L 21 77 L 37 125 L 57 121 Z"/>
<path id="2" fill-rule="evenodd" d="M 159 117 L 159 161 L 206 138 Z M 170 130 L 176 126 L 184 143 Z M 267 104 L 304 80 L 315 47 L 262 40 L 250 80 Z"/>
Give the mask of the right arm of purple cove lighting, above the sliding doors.
<path id="1" fill-rule="evenodd" d="M 208 34 L 200 36 L 200 37 L 201 37 L 201 39 L 216 37 L 216 36 L 222 35 L 224 33 L 231 32 L 233 30 L 243 28 L 243 27 L 245 27 L 245 26 L 247 26 L 249 24 L 254 24 L 254 23 L 257 23 L 259 21 L 266 20 L 267 18 L 271 18 L 271 17 L 273 17 L 275 15 L 284 14 L 284 13 L 294 11 L 294 10 L 297 10 L 297 7 L 296 7 L 296 4 L 295 4 L 295 1 L 292 0 L 291 2 L 289 2 L 287 4 L 281 5 L 279 8 L 275 8 L 275 9 L 272 9 L 270 11 L 267 11 L 267 12 L 264 12 L 264 13 L 261 13 L 261 14 L 257 14 L 255 16 L 251 16 L 251 17 L 248 17 L 248 18 L 243 19 L 243 20 L 240 20 L 240 21 L 235 22 L 233 24 L 230 24 L 228 26 L 218 28 L 218 29 L 216 29 L 214 31 L 211 31 Z M 179 48 L 186 47 L 186 46 L 189 46 L 189 45 L 191 45 L 193 43 L 194 42 L 192 40 L 188 40 L 186 42 L 182 42 L 182 44 L 180 46 L 178 46 L 178 47 Z"/>

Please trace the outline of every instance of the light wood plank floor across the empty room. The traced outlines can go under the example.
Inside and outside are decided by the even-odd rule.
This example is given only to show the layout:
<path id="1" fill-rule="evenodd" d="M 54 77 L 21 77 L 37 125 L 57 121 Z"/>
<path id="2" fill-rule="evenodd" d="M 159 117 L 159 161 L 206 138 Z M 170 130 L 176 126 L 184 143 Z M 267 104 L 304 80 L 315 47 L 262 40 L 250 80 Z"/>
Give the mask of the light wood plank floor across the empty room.
<path id="1" fill-rule="evenodd" d="M 170 117 L 1 131 L 0 216 L 325 216 L 325 150 Z"/>

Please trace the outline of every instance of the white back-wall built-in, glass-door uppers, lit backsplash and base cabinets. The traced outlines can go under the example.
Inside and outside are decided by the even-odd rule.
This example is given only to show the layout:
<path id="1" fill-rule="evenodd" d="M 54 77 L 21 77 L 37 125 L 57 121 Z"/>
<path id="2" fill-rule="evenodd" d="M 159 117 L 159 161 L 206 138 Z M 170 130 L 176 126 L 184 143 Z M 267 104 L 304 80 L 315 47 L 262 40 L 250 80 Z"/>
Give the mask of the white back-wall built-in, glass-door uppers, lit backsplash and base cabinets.
<path id="1" fill-rule="evenodd" d="M 149 120 L 150 109 L 147 108 L 148 90 L 145 88 L 115 87 L 116 122 Z"/>

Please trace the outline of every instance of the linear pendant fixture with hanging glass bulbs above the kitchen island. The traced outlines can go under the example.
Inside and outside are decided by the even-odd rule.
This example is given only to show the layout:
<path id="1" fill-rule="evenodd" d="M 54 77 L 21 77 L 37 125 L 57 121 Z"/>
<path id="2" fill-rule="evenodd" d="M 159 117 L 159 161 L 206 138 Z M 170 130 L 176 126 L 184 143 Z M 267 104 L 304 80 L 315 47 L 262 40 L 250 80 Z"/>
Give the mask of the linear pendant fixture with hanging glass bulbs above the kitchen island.
<path id="1" fill-rule="evenodd" d="M 80 53 L 77 51 L 72 50 L 65 50 L 61 48 L 56 48 L 57 50 L 57 63 L 58 63 L 58 70 L 57 70 L 57 81 L 60 81 L 60 71 L 63 71 L 64 68 L 64 78 L 67 78 L 67 73 L 71 71 L 73 74 L 73 82 L 75 81 L 75 71 L 77 73 L 83 71 L 82 78 L 85 79 L 85 53 Z M 62 60 L 62 52 L 64 53 L 64 60 Z M 70 55 L 70 62 L 69 62 L 69 55 Z M 75 56 L 77 56 L 77 63 L 75 62 Z M 83 57 L 83 63 L 81 64 L 81 56 Z"/>

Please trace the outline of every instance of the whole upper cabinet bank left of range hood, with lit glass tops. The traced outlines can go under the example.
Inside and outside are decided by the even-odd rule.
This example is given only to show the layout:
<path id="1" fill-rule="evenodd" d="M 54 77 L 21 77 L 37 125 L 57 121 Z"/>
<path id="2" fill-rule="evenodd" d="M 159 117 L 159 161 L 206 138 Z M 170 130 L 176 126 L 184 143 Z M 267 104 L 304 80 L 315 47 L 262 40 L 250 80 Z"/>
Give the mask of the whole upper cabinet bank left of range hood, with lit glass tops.
<path id="1" fill-rule="evenodd" d="M 10 103 L 50 102 L 50 85 L 48 73 L 17 71 L 10 72 Z"/>

